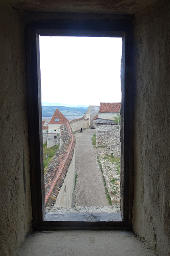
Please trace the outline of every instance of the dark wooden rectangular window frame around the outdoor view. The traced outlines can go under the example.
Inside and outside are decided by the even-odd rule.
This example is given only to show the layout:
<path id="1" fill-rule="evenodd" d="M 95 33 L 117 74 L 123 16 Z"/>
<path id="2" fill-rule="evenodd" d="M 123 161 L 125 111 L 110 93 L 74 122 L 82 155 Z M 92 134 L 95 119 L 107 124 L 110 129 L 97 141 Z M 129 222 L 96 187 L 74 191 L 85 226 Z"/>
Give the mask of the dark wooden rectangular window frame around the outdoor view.
<path id="1" fill-rule="evenodd" d="M 41 36 L 122 37 L 121 63 L 121 214 L 120 213 L 45 213 L 41 81 L 39 60 Z M 132 230 L 133 205 L 133 34 L 130 19 L 120 20 L 45 20 L 25 27 L 27 111 L 30 148 L 31 202 L 34 230 Z"/>

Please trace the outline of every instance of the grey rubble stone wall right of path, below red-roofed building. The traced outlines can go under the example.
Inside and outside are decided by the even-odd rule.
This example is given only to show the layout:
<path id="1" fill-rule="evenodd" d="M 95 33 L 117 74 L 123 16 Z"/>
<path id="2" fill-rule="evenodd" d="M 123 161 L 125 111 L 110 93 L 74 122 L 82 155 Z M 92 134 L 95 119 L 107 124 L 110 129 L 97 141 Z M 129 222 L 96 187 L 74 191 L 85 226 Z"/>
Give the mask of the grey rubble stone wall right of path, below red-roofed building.
<path id="1" fill-rule="evenodd" d="M 96 122 L 96 147 L 109 146 L 115 142 L 120 142 L 120 125 Z"/>

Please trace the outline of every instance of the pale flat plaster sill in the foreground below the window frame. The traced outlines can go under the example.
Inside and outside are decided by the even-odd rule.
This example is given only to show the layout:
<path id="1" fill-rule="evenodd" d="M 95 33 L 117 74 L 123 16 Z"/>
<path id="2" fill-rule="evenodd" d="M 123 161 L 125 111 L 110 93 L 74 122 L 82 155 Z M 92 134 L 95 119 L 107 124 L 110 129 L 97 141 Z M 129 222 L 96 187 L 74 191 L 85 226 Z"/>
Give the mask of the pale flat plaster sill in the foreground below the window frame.
<path id="1" fill-rule="evenodd" d="M 153 251 L 126 231 L 35 232 L 12 256 L 153 256 Z"/>

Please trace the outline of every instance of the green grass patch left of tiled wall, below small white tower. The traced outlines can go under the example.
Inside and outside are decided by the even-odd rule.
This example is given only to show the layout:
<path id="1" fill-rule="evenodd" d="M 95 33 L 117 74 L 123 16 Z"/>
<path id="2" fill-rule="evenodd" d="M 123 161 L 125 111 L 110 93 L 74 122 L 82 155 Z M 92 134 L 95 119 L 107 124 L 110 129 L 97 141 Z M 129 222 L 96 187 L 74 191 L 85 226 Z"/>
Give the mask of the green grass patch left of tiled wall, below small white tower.
<path id="1" fill-rule="evenodd" d="M 44 162 L 44 172 L 47 170 L 48 165 L 51 163 L 53 156 L 59 149 L 59 145 L 53 146 L 52 148 L 47 148 L 47 141 L 43 144 L 43 162 Z M 49 155 L 48 158 L 46 156 Z"/>

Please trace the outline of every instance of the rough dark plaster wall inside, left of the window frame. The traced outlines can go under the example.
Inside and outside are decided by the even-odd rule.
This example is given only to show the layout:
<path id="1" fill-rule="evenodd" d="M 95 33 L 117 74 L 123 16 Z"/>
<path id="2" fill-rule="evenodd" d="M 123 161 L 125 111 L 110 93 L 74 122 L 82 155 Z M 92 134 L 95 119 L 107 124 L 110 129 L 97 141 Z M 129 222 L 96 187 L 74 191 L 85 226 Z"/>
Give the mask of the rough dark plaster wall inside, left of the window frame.
<path id="1" fill-rule="evenodd" d="M 30 232 L 32 215 L 24 26 L 2 1 L 0 13 L 0 255 L 7 256 Z"/>

